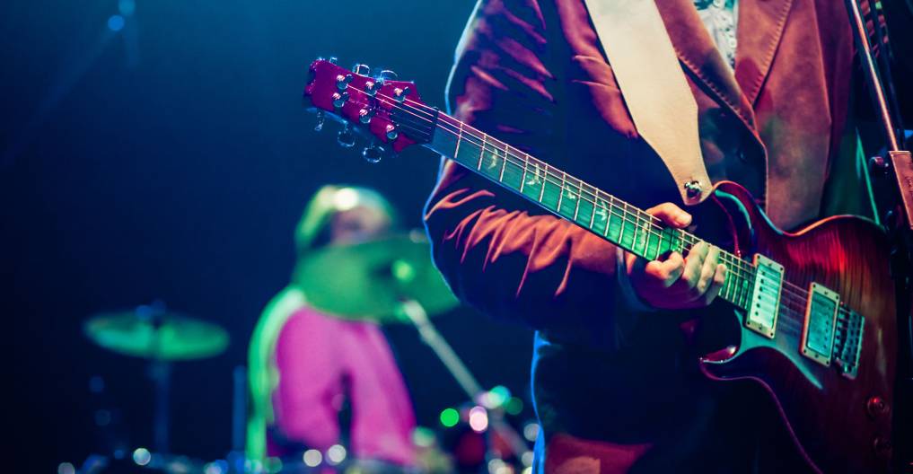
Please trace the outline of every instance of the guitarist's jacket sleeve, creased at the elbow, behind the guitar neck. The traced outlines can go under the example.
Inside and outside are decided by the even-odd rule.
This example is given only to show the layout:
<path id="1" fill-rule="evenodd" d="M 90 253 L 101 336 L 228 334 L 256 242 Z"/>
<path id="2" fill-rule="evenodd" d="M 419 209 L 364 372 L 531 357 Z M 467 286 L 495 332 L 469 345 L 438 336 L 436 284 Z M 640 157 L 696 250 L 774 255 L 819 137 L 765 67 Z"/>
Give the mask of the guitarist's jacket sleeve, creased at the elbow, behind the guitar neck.
<path id="1" fill-rule="evenodd" d="M 568 58 L 553 8 L 479 2 L 457 47 L 448 98 L 457 118 L 558 166 Z M 602 238 L 446 159 L 425 226 L 438 269 L 469 305 L 564 340 L 617 344 L 618 252 Z"/>

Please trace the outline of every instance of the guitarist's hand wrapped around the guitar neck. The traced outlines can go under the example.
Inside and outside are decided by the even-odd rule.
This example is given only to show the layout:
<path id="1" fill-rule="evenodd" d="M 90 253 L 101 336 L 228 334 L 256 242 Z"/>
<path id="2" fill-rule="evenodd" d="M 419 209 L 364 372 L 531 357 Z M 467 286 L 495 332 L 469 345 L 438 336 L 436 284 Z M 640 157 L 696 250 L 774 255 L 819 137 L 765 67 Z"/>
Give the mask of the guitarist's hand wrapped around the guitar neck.
<path id="1" fill-rule="evenodd" d="M 684 228 L 691 216 L 677 205 L 663 203 L 646 210 L 667 226 Z M 682 258 L 672 252 L 665 259 L 647 261 L 625 252 L 625 269 L 637 297 L 662 310 L 707 306 L 717 297 L 726 278 L 726 266 L 718 263 L 719 248 L 699 242 Z"/>

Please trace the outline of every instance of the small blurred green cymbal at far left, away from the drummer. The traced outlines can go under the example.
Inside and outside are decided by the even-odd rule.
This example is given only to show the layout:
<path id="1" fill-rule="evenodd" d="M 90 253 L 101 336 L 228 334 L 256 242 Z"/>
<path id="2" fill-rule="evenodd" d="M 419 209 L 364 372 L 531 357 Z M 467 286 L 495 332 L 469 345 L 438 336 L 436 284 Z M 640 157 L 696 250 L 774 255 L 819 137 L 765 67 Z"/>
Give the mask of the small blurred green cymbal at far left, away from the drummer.
<path id="1" fill-rule="evenodd" d="M 211 322 L 180 313 L 136 311 L 102 313 L 83 325 L 92 342 L 115 353 L 157 359 L 185 361 L 205 359 L 223 353 L 228 332 Z"/>

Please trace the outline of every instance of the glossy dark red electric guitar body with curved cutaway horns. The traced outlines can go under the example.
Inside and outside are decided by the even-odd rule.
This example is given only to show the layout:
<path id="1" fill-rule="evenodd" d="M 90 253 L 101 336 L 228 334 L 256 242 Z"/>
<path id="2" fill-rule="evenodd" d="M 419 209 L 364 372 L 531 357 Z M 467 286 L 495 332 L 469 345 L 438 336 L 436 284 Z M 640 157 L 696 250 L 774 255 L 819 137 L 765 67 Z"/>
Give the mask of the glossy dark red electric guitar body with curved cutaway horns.
<path id="1" fill-rule="evenodd" d="M 771 339 L 741 329 L 736 347 L 706 356 L 714 380 L 761 383 L 780 408 L 794 441 L 823 472 L 886 472 L 890 466 L 897 313 L 888 273 L 887 235 L 874 223 L 837 216 L 785 233 L 771 225 L 748 191 L 720 183 L 713 200 L 731 218 L 736 251 L 781 262 L 785 277 L 808 290 L 815 281 L 839 292 L 846 307 L 866 315 L 855 379 L 800 353 L 803 321 L 777 320 Z M 731 314 L 731 307 L 727 310 Z M 796 313 L 802 311 L 796 308 Z M 733 434 L 735 436 L 735 434 Z"/>

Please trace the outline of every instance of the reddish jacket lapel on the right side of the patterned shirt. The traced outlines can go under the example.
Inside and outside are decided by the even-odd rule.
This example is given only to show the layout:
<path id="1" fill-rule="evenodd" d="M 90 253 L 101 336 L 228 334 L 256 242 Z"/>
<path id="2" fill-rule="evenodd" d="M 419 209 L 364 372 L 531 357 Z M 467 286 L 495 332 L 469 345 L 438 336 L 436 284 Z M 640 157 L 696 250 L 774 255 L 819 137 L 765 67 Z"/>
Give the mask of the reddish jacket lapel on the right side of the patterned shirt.
<path id="1" fill-rule="evenodd" d="M 792 0 L 738 1 L 736 79 L 749 103 L 753 104 L 771 70 Z"/>

